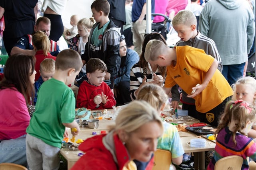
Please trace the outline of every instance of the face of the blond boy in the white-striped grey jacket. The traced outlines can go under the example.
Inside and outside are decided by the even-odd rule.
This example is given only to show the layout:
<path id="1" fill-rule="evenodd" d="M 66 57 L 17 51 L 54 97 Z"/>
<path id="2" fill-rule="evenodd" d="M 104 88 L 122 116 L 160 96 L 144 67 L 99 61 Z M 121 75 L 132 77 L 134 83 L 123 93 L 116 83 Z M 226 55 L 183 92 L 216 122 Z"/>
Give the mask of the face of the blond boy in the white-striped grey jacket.
<path id="1" fill-rule="evenodd" d="M 181 41 L 188 41 L 190 38 L 193 37 L 193 31 L 195 30 L 192 25 L 184 25 L 184 24 L 178 24 L 173 26 L 175 31 L 178 33 L 178 36 L 180 37 Z"/>

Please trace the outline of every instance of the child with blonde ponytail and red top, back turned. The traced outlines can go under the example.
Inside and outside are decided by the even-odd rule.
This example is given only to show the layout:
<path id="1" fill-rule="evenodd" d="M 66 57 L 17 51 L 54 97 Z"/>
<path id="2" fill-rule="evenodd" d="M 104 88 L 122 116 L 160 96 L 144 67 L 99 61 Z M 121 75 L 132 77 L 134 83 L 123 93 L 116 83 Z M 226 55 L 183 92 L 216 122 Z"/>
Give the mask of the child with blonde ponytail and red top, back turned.
<path id="1" fill-rule="evenodd" d="M 40 77 L 40 74 L 39 74 L 40 63 L 46 58 L 56 60 L 56 57 L 50 54 L 50 47 L 51 47 L 50 39 L 46 35 L 46 33 L 44 33 L 43 31 L 36 31 L 32 33 L 32 43 L 33 43 L 34 50 L 36 50 L 35 70 L 37 73 L 36 73 L 35 81 L 37 81 L 38 78 Z"/>

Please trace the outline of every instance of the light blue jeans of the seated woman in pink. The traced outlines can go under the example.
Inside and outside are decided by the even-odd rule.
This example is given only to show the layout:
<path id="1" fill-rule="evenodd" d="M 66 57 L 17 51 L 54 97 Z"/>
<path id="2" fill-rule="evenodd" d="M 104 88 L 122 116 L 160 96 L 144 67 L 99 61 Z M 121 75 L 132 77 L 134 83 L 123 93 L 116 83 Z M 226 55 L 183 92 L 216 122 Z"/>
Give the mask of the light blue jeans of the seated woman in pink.
<path id="1" fill-rule="evenodd" d="M 26 135 L 0 142 L 0 163 L 3 162 L 27 166 Z"/>

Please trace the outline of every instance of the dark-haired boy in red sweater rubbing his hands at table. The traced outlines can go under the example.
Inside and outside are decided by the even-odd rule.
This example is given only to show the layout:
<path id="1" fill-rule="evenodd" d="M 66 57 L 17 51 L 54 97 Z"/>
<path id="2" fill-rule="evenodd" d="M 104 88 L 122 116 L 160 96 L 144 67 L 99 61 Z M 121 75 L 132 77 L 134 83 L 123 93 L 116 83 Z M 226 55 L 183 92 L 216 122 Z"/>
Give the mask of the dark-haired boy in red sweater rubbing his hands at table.
<path id="1" fill-rule="evenodd" d="M 86 65 L 88 80 L 82 82 L 79 87 L 76 101 L 78 108 L 109 109 L 116 105 L 113 92 L 104 82 L 106 72 L 107 66 L 102 60 L 92 58 L 88 61 Z"/>

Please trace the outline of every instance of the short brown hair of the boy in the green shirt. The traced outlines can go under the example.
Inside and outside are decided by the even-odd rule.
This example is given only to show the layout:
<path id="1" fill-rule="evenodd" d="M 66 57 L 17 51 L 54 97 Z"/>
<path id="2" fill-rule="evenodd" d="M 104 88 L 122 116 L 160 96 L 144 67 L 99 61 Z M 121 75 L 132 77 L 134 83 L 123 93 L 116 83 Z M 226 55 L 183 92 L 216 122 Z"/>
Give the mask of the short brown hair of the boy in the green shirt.
<path id="1" fill-rule="evenodd" d="M 81 70 L 82 59 L 78 52 L 72 49 L 64 49 L 56 57 L 55 70 L 68 70 L 74 68 L 75 71 Z"/>

